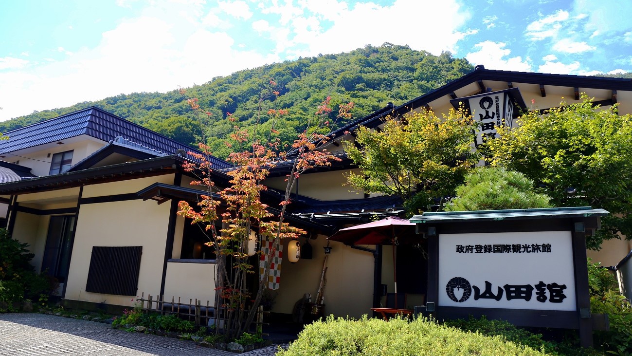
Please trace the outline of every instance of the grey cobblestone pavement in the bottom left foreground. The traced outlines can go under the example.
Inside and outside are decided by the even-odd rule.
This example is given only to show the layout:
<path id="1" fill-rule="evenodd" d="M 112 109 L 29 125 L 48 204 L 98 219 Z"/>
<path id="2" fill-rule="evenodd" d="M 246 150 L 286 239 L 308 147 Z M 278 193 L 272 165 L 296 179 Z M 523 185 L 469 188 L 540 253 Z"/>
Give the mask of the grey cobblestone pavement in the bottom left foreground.
<path id="1" fill-rule="evenodd" d="M 274 355 L 267 347 L 241 355 Z M 233 352 L 200 347 L 193 341 L 157 335 L 128 333 L 109 324 L 49 316 L 46 314 L 0 314 L 1 356 L 42 355 L 195 355 L 228 356 Z"/>

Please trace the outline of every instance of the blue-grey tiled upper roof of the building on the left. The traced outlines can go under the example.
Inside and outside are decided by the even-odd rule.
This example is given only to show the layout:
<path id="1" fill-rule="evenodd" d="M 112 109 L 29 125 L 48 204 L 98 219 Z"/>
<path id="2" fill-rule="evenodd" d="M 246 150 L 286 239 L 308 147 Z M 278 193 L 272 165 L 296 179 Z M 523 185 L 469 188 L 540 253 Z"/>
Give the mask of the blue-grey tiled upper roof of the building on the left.
<path id="1" fill-rule="evenodd" d="M 199 152 L 95 106 L 24 126 L 6 132 L 4 135 L 9 136 L 9 140 L 0 142 L 0 152 L 4 153 L 58 142 L 79 135 L 88 135 L 106 142 L 121 136 L 135 144 L 164 154 L 175 154 L 178 150 Z M 189 158 L 193 159 L 193 157 Z M 219 168 L 231 166 L 216 157 L 211 157 L 211 160 Z"/>

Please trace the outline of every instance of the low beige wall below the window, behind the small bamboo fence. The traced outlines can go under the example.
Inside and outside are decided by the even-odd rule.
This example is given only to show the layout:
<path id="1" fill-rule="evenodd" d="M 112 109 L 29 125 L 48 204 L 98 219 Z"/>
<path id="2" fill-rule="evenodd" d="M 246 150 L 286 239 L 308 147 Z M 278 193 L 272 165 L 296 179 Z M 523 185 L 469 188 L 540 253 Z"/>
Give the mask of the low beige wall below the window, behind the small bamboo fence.
<path id="1" fill-rule="evenodd" d="M 195 299 L 202 305 L 215 303 L 215 264 L 167 262 L 167 276 L 164 285 L 164 300 L 170 302 L 172 297 L 178 302 L 195 304 Z M 147 293 L 145 293 L 147 295 Z M 152 293 L 153 295 L 153 293 Z"/>

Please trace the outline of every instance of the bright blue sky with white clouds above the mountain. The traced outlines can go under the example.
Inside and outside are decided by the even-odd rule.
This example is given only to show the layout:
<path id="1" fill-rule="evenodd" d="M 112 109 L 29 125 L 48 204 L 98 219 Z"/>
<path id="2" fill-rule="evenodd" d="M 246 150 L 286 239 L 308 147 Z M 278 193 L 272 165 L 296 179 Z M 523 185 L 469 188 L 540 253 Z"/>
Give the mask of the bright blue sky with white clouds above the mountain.
<path id="1" fill-rule="evenodd" d="M 631 15 L 628 0 L 2 0 L 0 120 L 384 42 L 496 70 L 628 72 Z"/>

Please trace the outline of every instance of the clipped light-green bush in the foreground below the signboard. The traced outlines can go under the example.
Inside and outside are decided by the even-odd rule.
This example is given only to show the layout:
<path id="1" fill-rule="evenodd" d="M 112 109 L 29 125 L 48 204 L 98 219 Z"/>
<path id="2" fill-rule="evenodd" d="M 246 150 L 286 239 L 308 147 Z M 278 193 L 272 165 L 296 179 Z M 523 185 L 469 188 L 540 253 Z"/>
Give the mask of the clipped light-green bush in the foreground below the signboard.
<path id="1" fill-rule="evenodd" d="M 360 320 L 328 317 L 301 331 L 279 356 L 294 355 L 546 355 L 499 336 L 466 333 L 425 318 Z"/>

